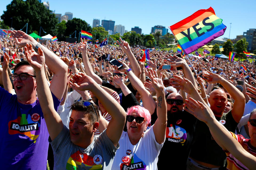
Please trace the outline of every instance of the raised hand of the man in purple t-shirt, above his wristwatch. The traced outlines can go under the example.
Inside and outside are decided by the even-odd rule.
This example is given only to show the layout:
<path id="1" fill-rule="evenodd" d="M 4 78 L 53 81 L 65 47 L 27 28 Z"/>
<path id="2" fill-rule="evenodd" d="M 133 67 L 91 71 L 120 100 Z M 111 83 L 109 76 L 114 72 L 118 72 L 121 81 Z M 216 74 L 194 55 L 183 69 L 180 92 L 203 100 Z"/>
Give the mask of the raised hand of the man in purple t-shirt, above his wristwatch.
<path id="1" fill-rule="evenodd" d="M 30 35 L 24 33 L 21 30 L 13 30 L 11 31 L 11 37 L 13 37 L 15 39 L 15 43 L 20 46 L 20 47 L 25 47 L 26 44 L 34 44 L 34 46 L 36 46 L 37 41 L 35 41 L 35 39 L 33 37 L 31 37 Z"/>

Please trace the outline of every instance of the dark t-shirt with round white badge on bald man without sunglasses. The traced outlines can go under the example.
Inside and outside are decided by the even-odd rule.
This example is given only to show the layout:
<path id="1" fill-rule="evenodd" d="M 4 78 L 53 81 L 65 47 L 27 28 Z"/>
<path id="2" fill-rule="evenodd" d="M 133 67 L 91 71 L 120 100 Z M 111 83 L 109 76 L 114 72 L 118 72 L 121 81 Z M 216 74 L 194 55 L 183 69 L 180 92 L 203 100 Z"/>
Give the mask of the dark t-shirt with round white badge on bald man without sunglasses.
<path id="1" fill-rule="evenodd" d="M 221 122 L 228 131 L 235 132 L 237 122 L 235 122 L 231 110 L 222 115 L 215 117 Z M 226 154 L 223 149 L 215 142 L 211 136 L 208 126 L 202 122 L 197 122 L 195 129 L 195 142 L 192 145 L 190 157 L 195 160 L 223 167 L 226 163 Z"/>

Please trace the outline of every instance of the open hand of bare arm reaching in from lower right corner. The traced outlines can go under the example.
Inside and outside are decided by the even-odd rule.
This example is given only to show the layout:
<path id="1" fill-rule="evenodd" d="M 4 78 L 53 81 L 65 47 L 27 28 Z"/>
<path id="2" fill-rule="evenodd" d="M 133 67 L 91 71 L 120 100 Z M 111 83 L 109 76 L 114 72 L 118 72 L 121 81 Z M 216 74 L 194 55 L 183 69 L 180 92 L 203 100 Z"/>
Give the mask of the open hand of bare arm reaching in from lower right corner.
<path id="1" fill-rule="evenodd" d="M 213 113 L 211 113 L 203 103 L 195 101 L 192 98 L 185 99 L 185 101 L 185 110 L 202 122 L 207 122 L 211 118 L 214 118 Z"/>

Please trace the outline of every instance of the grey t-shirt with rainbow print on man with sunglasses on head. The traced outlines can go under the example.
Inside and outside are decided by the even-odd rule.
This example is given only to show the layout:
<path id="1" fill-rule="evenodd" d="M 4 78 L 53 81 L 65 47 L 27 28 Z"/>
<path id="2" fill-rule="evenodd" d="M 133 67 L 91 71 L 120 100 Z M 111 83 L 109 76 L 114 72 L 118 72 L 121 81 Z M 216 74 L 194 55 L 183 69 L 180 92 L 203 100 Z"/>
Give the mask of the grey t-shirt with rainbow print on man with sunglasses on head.
<path id="1" fill-rule="evenodd" d="M 63 126 L 59 135 L 49 142 L 54 153 L 54 169 L 111 169 L 115 152 L 119 148 L 111 142 L 106 130 L 94 136 L 87 148 L 81 148 L 70 140 L 69 129 Z M 85 153 L 82 155 L 82 153 Z"/>

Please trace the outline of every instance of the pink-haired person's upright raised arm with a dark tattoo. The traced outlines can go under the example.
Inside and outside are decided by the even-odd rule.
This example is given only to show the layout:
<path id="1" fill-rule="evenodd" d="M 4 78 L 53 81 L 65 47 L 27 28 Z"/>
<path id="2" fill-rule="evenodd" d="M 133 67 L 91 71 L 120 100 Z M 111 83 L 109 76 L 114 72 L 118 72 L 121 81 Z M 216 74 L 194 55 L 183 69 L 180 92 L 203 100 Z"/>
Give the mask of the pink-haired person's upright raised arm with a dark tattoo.
<path id="1" fill-rule="evenodd" d="M 163 81 L 160 78 L 154 78 L 153 74 L 149 72 L 152 84 L 157 91 L 157 120 L 153 126 L 155 140 L 162 144 L 165 141 L 165 132 L 167 125 L 167 105 L 165 100 L 165 90 Z M 162 73 L 160 73 L 160 77 Z"/>

